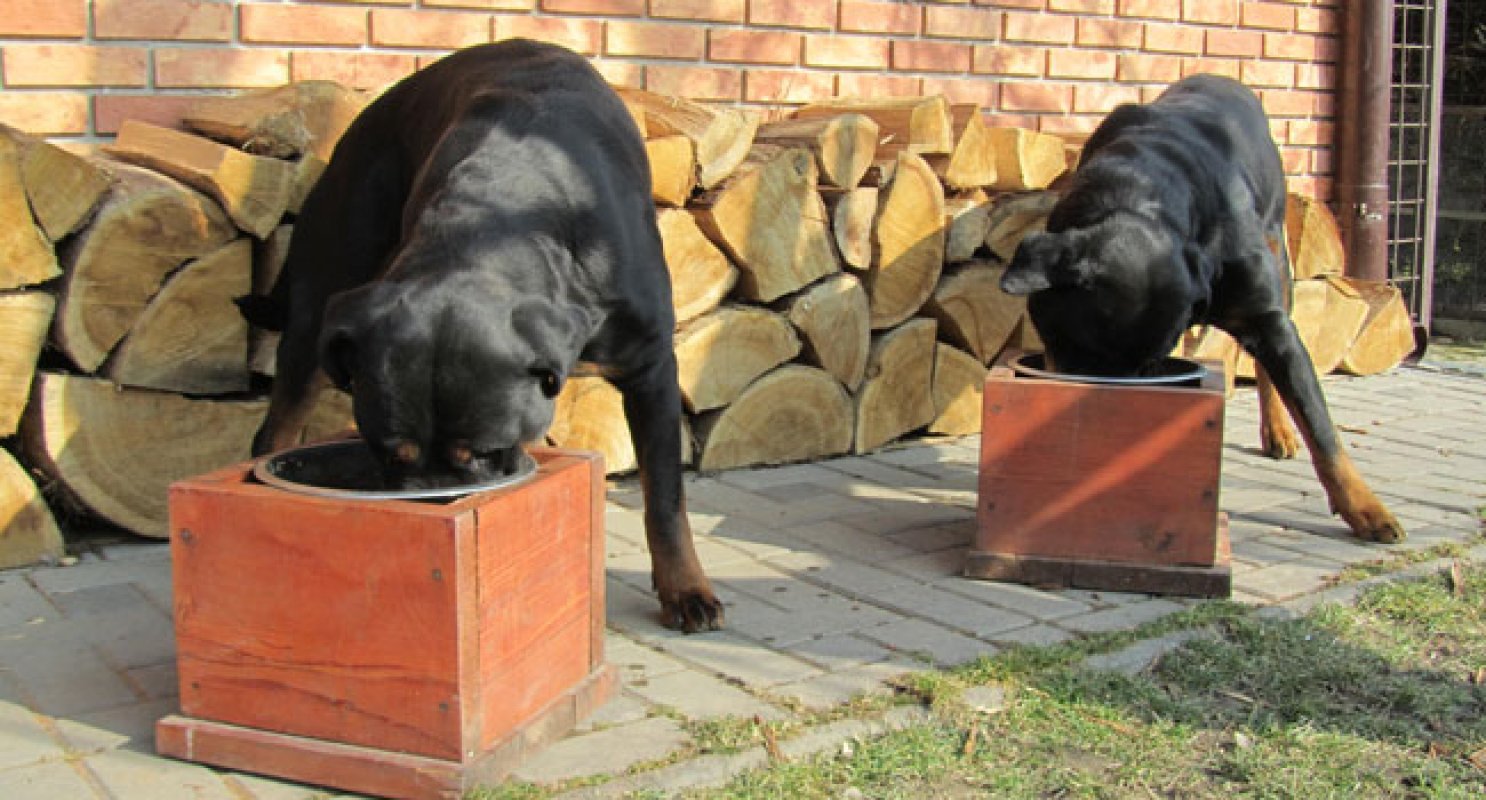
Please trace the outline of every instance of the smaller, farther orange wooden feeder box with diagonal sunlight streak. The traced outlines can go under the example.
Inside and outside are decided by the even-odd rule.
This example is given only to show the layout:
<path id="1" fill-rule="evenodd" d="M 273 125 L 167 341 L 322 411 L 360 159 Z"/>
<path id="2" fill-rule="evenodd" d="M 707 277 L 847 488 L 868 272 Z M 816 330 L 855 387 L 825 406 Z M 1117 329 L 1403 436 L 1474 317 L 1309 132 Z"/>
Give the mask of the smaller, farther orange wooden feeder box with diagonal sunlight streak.
<path id="1" fill-rule="evenodd" d="M 1226 400 L 1198 387 L 985 381 L 970 577 L 1226 596 Z"/>

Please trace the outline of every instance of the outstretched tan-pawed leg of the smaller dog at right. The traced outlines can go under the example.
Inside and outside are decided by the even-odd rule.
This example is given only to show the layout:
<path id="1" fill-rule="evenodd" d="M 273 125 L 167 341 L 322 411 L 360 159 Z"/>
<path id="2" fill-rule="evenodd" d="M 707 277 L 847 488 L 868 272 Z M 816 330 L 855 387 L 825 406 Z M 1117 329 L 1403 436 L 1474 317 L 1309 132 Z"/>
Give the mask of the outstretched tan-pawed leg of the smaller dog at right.
<path id="1" fill-rule="evenodd" d="M 1321 382 L 1311 366 L 1311 357 L 1296 333 L 1294 324 L 1281 312 L 1274 312 L 1256 336 L 1244 343 L 1257 366 L 1268 375 L 1271 391 L 1282 400 L 1311 449 L 1315 474 L 1326 488 L 1331 510 L 1342 516 L 1358 538 L 1369 541 L 1401 541 L 1403 525 L 1363 480 L 1326 407 Z"/>

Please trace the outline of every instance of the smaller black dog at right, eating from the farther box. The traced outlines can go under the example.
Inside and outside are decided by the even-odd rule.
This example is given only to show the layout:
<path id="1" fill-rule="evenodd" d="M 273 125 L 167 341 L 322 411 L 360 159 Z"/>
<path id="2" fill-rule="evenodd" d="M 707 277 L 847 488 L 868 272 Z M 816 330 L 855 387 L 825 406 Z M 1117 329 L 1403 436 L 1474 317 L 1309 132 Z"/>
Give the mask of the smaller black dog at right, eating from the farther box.
<path id="1" fill-rule="evenodd" d="M 1002 288 L 1030 294 L 1048 358 L 1068 373 L 1138 375 L 1192 324 L 1229 332 L 1257 364 L 1265 451 L 1299 449 L 1288 409 L 1331 509 L 1361 538 L 1398 541 L 1403 526 L 1342 449 L 1290 323 L 1284 220 L 1284 170 L 1259 98 L 1192 76 L 1100 123 Z"/>

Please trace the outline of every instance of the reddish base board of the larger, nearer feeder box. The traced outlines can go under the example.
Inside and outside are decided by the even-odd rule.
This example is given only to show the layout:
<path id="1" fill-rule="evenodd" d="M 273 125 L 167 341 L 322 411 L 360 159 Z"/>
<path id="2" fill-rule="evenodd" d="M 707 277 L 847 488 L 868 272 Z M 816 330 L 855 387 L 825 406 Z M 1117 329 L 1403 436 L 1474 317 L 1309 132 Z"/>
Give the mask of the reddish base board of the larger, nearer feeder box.
<path id="1" fill-rule="evenodd" d="M 542 746 L 563 738 L 618 688 L 605 665 L 484 752 L 447 761 L 345 742 L 312 739 L 193 717 L 171 715 L 155 727 L 162 755 L 302 784 L 407 800 L 458 799 L 495 784 Z"/>

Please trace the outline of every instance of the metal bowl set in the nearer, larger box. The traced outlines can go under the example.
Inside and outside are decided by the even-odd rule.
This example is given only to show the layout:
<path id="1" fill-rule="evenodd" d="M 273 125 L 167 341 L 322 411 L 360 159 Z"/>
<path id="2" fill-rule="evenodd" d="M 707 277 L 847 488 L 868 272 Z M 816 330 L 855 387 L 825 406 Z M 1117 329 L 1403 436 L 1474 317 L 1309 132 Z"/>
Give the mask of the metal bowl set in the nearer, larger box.
<path id="1" fill-rule="evenodd" d="M 388 489 L 372 449 L 360 439 L 306 445 L 260 459 L 253 476 L 290 492 L 339 500 L 452 500 L 474 492 L 505 489 L 536 474 L 536 459 L 522 452 L 511 474 L 477 483 L 431 489 Z"/>

